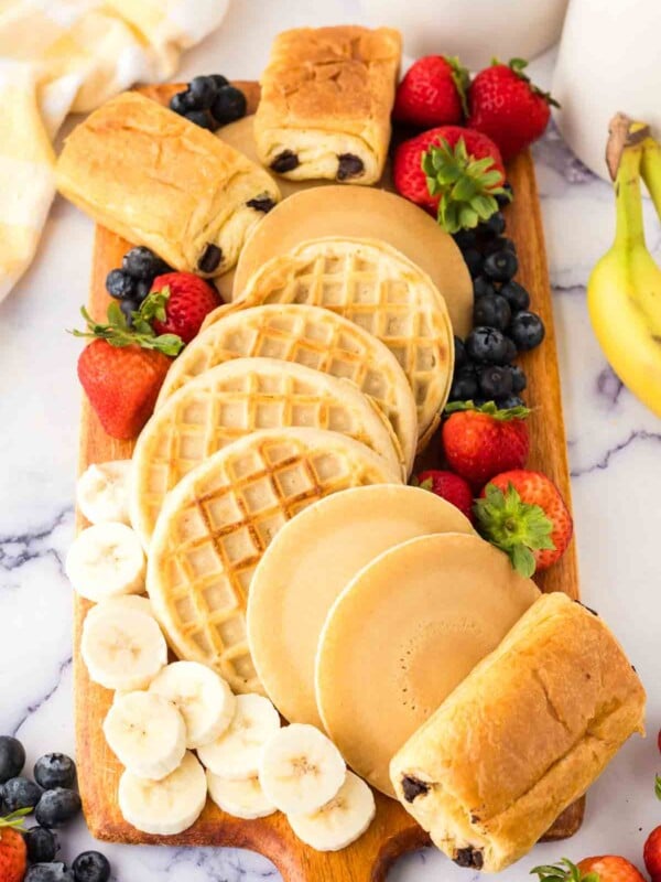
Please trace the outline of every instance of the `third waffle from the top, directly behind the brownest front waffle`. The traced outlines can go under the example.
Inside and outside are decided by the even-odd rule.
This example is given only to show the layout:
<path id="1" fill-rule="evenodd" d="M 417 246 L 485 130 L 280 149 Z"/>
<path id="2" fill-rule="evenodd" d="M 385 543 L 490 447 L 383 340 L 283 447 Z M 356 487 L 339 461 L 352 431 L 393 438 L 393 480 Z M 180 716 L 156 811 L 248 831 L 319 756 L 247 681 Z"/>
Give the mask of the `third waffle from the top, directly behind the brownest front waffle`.
<path id="1" fill-rule="evenodd" d="M 184 475 L 238 438 L 288 426 L 346 434 L 403 474 L 392 427 L 353 383 L 295 362 L 235 358 L 182 386 L 140 434 L 133 453 L 131 521 L 144 547 L 165 494 Z"/>

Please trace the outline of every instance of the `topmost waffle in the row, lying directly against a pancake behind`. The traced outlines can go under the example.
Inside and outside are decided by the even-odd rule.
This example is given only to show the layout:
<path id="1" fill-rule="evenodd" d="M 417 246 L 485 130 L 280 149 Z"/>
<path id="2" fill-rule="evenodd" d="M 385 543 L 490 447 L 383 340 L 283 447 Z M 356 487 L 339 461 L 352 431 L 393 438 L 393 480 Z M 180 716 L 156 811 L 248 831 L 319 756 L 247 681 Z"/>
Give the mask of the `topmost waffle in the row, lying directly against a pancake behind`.
<path id="1" fill-rule="evenodd" d="M 263 263 L 236 306 L 217 314 L 259 303 L 324 306 L 382 341 L 413 390 L 424 447 L 438 424 L 454 367 L 445 300 L 425 272 L 383 241 L 310 239 Z"/>

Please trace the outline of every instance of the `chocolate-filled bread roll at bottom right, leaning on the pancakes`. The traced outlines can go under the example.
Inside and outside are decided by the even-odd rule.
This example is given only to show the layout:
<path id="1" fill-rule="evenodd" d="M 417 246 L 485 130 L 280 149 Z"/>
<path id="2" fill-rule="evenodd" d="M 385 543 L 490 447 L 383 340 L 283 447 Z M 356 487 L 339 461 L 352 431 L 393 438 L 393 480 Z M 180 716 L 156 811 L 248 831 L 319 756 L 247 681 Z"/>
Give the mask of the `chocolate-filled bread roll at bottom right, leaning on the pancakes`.
<path id="1" fill-rule="evenodd" d="M 644 691 L 602 620 L 542 595 L 395 754 L 404 808 L 462 867 L 497 872 L 643 731 Z"/>

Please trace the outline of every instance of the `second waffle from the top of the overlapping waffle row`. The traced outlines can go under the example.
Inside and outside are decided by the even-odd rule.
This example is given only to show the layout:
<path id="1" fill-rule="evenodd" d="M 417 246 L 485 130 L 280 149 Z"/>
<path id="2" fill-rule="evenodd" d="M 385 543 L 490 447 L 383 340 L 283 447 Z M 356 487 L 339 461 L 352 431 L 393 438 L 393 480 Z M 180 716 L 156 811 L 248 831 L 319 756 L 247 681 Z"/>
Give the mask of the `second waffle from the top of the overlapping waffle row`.
<path id="1" fill-rule="evenodd" d="M 400 443 L 407 470 L 415 456 L 415 404 L 401 367 L 386 346 L 327 310 L 271 305 L 237 310 L 203 331 L 173 362 L 156 409 L 189 379 L 231 358 L 296 362 L 353 380 L 381 408 Z"/>

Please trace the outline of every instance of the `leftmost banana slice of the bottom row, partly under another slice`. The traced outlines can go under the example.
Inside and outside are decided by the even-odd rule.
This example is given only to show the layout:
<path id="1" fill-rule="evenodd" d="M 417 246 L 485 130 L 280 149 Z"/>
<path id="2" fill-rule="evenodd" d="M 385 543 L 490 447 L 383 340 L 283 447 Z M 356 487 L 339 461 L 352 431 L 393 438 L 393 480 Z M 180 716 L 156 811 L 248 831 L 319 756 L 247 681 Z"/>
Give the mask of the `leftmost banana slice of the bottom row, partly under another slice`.
<path id="1" fill-rule="evenodd" d="M 118 802 L 124 819 L 136 829 L 175 836 L 195 824 L 206 794 L 204 768 L 186 752 L 181 765 L 162 781 L 139 778 L 127 770 L 119 779 Z"/>

